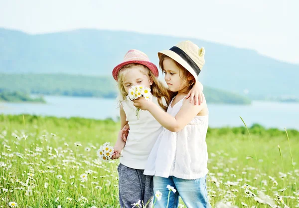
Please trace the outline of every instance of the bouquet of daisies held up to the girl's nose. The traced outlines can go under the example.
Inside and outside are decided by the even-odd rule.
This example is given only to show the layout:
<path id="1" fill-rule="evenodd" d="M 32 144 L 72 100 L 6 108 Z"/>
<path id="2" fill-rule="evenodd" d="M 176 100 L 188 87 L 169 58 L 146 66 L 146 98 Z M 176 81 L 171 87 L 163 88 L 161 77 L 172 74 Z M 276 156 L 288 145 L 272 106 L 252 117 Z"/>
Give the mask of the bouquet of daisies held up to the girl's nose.
<path id="1" fill-rule="evenodd" d="M 144 97 L 145 100 L 151 100 L 152 94 L 150 93 L 150 88 L 142 86 L 142 85 L 132 86 L 129 89 L 129 93 L 127 95 L 127 100 L 132 100 L 133 101 L 133 100 L 136 100 L 140 97 Z M 137 108 L 136 116 L 137 116 L 138 120 L 139 120 L 139 111 L 140 111 L 140 109 Z"/>

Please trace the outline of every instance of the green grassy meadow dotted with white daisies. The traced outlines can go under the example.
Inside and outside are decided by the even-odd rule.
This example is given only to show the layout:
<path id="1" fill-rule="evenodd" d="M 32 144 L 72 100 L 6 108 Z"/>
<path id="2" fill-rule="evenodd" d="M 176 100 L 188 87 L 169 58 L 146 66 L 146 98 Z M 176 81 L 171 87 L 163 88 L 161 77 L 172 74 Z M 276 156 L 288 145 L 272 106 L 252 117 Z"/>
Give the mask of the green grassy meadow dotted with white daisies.
<path id="1" fill-rule="evenodd" d="M 118 161 L 101 163 L 96 155 L 100 145 L 116 140 L 119 126 L 0 115 L 0 207 L 119 208 Z M 288 130 L 290 143 L 278 129 L 254 125 L 249 132 L 252 139 L 244 127 L 208 130 L 212 207 L 298 207 L 299 132 Z"/>

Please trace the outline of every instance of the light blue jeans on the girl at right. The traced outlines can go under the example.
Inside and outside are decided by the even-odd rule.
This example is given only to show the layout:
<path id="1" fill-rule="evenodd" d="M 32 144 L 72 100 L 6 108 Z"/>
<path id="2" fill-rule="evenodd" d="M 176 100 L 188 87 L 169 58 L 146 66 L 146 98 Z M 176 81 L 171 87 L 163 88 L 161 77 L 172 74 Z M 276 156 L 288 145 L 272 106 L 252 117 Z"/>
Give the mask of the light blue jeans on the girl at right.
<path id="1" fill-rule="evenodd" d="M 167 185 L 172 186 L 176 192 L 170 193 L 168 208 L 177 208 L 179 196 L 187 208 L 211 208 L 208 202 L 206 176 L 200 179 L 185 180 L 174 176 L 169 178 L 153 177 L 153 191 L 160 191 L 162 198 L 160 201 L 154 199 L 154 208 L 166 208 L 169 190 Z"/>

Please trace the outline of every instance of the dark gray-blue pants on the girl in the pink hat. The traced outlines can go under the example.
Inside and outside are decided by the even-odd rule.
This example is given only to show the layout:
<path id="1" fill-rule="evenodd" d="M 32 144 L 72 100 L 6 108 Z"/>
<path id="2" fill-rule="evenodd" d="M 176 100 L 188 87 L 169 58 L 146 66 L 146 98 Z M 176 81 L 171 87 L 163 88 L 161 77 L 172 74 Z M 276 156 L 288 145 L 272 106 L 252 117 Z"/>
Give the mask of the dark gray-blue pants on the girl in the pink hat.
<path id="1" fill-rule="evenodd" d="M 153 196 L 153 180 L 152 176 L 143 174 L 144 170 L 129 168 L 120 163 L 117 168 L 119 173 L 119 198 L 121 208 L 132 208 L 134 203 L 139 200 L 146 205 L 149 200 L 151 202 L 147 206 L 152 205 Z M 142 202 L 141 206 L 142 207 Z"/>

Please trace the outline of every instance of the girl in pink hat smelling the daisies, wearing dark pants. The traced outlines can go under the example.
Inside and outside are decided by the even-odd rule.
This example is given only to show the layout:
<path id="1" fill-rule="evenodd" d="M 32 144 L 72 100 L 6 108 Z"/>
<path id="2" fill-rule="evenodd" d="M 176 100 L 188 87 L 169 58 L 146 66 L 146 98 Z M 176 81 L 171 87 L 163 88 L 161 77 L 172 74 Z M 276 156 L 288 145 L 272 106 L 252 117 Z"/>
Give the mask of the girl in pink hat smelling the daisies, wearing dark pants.
<path id="1" fill-rule="evenodd" d="M 152 103 L 164 112 L 171 101 L 171 92 L 158 81 L 158 69 L 149 61 L 148 56 L 139 50 L 129 50 L 124 61 L 113 69 L 113 77 L 118 82 L 120 91 L 120 117 L 121 129 L 130 125 L 130 133 L 125 143 L 120 131 L 115 153 L 112 159 L 120 158 L 119 173 L 119 200 L 121 208 L 132 208 L 136 203 L 143 201 L 151 207 L 153 196 L 152 176 L 143 174 L 149 157 L 159 133 L 163 127 L 148 111 L 140 111 L 139 119 L 136 116 L 136 107 L 128 101 L 129 88 L 133 85 L 143 85 L 151 89 Z M 202 86 L 196 85 L 194 93 L 198 100 L 202 97 Z M 199 93 L 198 93 L 199 92 Z M 191 94 L 191 93 L 190 93 Z M 193 98 L 193 95 L 192 95 Z"/>

